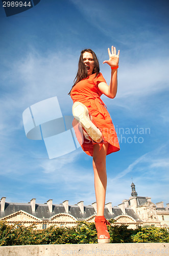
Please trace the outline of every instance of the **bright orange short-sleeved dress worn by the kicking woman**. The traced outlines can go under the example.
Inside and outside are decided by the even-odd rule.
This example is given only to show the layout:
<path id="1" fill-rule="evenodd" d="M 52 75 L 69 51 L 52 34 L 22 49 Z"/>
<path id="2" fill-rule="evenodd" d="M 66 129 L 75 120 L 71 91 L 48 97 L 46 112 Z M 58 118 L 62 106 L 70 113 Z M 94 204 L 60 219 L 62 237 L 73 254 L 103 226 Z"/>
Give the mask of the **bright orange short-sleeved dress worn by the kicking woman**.
<path id="1" fill-rule="evenodd" d="M 102 93 L 98 88 L 100 82 L 106 82 L 102 73 L 99 73 L 98 77 L 95 77 L 95 74 L 88 76 L 87 78 L 78 82 L 70 92 L 70 97 L 73 99 L 73 102 L 80 101 L 83 103 L 92 117 L 92 122 L 96 127 L 100 129 L 103 135 L 103 142 L 99 143 L 100 148 L 104 142 L 108 142 L 107 155 L 119 151 L 119 143 L 117 135 L 114 129 L 109 112 L 107 111 L 106 105 L 100 98 Z M 79 124 L 80 125 L 80 124 Z M 93 156 L 93 142 L 87 140 L 85 137 L 82 138 L 79 133 L 79 128 L 77 125 L 73 126 L 75 129 L 76 137 L 81 144 L 83 151 L 89 155 Z"/>

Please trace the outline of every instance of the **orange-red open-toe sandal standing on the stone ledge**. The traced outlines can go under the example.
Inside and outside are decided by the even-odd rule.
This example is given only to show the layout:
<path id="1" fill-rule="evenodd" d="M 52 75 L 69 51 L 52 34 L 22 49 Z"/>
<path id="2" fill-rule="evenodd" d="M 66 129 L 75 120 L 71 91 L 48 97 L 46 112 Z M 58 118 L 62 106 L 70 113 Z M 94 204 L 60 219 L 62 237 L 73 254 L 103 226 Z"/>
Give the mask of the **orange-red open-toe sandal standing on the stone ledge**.
<path id="1" fill-rule="evenodd" d="M 110 223 L 105 219 L 104 216 L 96 216 L 94 221 L 95 221 L 96 230 L 98 232 L 98 243 L 102 243 L 102 244 L 110 243 L 110 235 L 106 226 L 106 225 L 110 225 Z"/>

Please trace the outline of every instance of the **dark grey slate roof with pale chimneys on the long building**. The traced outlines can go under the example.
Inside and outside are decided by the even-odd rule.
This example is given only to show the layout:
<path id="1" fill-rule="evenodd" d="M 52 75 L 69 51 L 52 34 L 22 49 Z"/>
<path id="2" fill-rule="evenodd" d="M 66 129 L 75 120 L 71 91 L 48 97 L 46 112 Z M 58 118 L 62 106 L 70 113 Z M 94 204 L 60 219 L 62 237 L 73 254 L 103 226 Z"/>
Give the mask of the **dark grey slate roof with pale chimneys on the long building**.
<path id="1" fill-rule="evenodd" d="M 135 197 L 135 202 L 136 202 L 135 207 L 141 207 L 144 205 L 147 206 L 147 204 L 151 204 L 153 205 L 153 207 L 156 207 L 155 204 L 153 204 L 150 200 L 147 200 L 147 199 L 150 199 L 150 198 Z M 34 202 L 32 200 L 34 200 Z M 4 219 L 5 217 L 15 214 L 19 211 L 24 211 L 27 214 L 34 216 L 35 218 L 38 218 L 42 221 L 48 221 L 54 216 L 59 214 L 68 214 L 78 221 L 90 220 L 90 219 L 92 220 L 96 215 L 95 206 L 94 206 L 95 203 L 93 203 L 92 205 L 85 206 L 81 201 L 75 205 L 68 205 L 68 201 L 64 201 L 63 204 L 53 204 L 52 200 L 49 200 L 51 202 L 47 201 L 47 203 L 36 204 L 35 203 L 36 199 L 32 199 L 32 200 L 31 200 L 31 203 L 8 203 L 8 202 L 5 202 L 5 198 L 2 198 L 0 202 L 0 219 Z M 66 202 L 66 205 L 65 205 L 65 202 Z M 157 206 L 156 210 L 161 211 L 163 213 L 164 210 L 166 211 L 166 208 Z M 141 219 L 136 214 L 135 210 L 131 207 L 130 199 L 128 200 L 128 206 L 126 206 L 125 209 L 123 209 L 123 207 L 121 209 L 120 207 L 117 207 L 117 206 L 111 207 L 111 203 L 110 205 L 105 207 L 104 216 L 108 220 L 114 219 L 117 216 L 123 216 L 123 215 L 133 218 L 136 222 L 141 221 Z"/>

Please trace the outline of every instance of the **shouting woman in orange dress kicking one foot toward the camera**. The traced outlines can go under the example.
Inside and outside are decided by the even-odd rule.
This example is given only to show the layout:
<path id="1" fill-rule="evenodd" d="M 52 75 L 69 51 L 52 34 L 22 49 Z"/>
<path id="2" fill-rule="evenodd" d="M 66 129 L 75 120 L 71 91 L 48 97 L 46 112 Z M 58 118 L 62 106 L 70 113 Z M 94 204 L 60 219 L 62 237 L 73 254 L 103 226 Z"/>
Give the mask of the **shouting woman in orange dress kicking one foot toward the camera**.
<path id="1" fill-rule="evenodd" d="M 119 150 L 117 135 L 106 105 L 100 98 L 102 94 L 113 99 L 117 93 L 117 68 L 119 51 L 116 54 L 115 47 L 108 48 L 111 67 L 110 84 L 106 83 L 100 73 L 99 61 L 91 49 L 81 52 L 78 73 L 74 86 L 69 92 L 73 99 L 73 122 L 77 139 L 83 151 L 93 157 L 94 188 L 97 204 L 97 216 L 95 226 L 98 231 L 98 242 L 109 243 L 110 236 L 104 217 L 105 197 L 107 187 L 106 155 Z M 83 127 L 83 135 L 80 134 L 78 125 Z M 82 129 L 81 129 L 82 130 Z"/>

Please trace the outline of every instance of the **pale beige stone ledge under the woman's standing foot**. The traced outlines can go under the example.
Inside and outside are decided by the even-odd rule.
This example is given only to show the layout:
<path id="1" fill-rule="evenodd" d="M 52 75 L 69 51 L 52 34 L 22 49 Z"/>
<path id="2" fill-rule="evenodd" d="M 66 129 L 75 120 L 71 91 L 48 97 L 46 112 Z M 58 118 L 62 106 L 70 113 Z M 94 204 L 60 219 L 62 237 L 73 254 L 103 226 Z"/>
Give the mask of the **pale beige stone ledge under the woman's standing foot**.
<path id="1" fill-rule="evenodd" d="M 169 243 L 1 246 L 1 256 L 169 255 Z"/>

